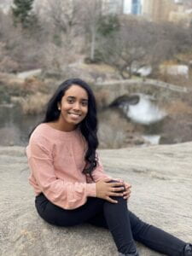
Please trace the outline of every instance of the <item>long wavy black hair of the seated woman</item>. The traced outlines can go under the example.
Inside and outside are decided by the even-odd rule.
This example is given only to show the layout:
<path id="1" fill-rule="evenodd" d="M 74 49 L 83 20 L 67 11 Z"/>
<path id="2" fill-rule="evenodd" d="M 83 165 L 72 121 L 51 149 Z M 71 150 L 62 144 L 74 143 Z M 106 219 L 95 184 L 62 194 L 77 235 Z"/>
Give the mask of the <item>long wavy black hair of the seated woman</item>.
<path id="1" fill-rule="evenodd" d="M 84 166 L 84 174 L 89 174 L 95 169 L 97 164 L 96 148 L 98 147 L 97 138 L 97 118 L 96 118 L 96 98 L 90 86 L 81 79 L 67 79 L 65 82 L 60 84 L 55 94 L 50 98 L 47 110 L 45 113 L 44 120 L 42 123 L 49 123 L 59 119 L 61 111 L 58 110 L 58 103 L 61 102 L 62 96 L 64 96 L 65 91 L 69 89 L 73 84 L 79 85 L 88 94 L 88 113 L 82 122 L 79 123 L 79 130 L 85 138 L 87 143 L 87 151 L 84 157 L 86 165 Z"/>

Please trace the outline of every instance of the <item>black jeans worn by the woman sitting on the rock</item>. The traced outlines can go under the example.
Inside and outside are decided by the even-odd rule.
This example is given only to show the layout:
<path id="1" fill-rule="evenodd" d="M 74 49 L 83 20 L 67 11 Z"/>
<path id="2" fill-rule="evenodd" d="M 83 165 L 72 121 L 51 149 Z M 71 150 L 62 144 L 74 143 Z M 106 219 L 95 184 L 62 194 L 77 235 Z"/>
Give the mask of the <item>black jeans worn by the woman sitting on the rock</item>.
<path id="1" fill-rule="evenodd" d="M 49 224 L 73 226 L 89 223 L 110 230 L 119 253 L 136 251 L 135 241 L 159 253 L 170 256 L 182 256 L 184 241 L 152 225 L 144 223 L 128 210 L 127 201 L 115 197 L 117 204 L 95 197 L 88 197 L 87 202 L 74 210 L 65 210 L 51 203 L 44 194 L 36 197 L 38 214 Z"/>

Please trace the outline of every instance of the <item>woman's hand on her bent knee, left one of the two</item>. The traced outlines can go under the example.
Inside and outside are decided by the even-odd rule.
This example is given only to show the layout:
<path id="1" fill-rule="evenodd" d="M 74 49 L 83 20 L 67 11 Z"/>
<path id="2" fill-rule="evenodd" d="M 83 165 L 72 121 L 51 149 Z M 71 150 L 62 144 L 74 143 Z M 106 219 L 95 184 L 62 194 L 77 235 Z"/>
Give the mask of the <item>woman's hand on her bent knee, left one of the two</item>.
<path id="1" fill-rule="evenodd" d="M 111 203 L 117 203 L 118 201 L 113 200 L 110 196 L 123 196 L 125 185 L 123 182 L 110 183 L 110 181 L 110 178 L 105 178 L 96 183 L 96 197 L 110 201 Z"/>

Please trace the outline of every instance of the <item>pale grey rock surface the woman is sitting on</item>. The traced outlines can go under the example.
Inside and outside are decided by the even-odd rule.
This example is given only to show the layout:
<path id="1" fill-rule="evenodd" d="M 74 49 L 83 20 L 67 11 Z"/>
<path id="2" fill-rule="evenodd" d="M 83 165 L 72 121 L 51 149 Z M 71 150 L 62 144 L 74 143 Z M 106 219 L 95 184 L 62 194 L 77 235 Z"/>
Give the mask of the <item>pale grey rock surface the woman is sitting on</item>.
<path id="1" fill-rule="evenodd" d="M 192 143 L 101 150 L 106 171 L 132 184 L 129 207 L 150 224 L 192 242 Z M 24 148 L 0 148 L 0 255 L 117 255 L 108 230 L 58 228 L 38 217 Z M 142 256 L 160 255 L 141 244 Z M 174 255 L 173 255 L 174 256 Z"/>

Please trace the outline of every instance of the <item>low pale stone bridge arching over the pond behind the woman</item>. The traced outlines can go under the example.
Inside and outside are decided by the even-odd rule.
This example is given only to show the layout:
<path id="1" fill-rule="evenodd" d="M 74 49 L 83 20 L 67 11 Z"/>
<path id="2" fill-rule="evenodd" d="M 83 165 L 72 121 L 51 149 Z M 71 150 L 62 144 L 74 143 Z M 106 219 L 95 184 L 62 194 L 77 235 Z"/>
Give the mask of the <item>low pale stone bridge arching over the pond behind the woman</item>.
<path id="1" fill-rule="evenodd" d="M 154 79 L 113 80 L 97 82 L 95 85 L 96 93 L 103 98 L 103 105 L 108 105 L 125 94 L 143 93 L 151 96 L 154 100 L 166 101 L 172 97 L 192 92 L 187 87 Z M 102 99 L 100 100 L 102 101 Z"/>

